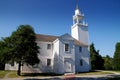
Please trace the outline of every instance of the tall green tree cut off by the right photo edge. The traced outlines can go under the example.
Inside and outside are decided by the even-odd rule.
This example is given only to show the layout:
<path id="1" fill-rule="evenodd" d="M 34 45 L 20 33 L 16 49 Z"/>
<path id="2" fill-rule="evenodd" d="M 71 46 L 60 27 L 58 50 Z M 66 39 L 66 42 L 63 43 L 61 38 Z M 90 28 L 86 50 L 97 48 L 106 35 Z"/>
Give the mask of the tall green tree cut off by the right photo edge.
<path id="1" fill-rule="evenodd" d="M 115 70 L 120 70 L 120 42 L 118 42 L 116 44 L 114 58 L 113 58 L 113 64 L 114 64 Z"/>

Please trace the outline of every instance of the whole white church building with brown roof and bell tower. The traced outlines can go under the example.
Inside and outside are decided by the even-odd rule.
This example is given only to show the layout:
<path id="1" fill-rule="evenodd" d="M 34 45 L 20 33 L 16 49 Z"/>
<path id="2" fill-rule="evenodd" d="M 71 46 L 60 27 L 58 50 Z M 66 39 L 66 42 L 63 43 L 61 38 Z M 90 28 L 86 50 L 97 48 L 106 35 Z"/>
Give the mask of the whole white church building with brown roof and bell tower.
<path id="1" fill-rule="evenodd" d="M 90 70 L 88 25 L 77 7 L 73 16 L 71 35 L 61 36 L 36 34 L 40 47 L 40 63 L 34 66 L 23 64 L 23 73 L 78 73 Z M 18 64 L 6 64 L 5 70 L 17 70 Z"/>

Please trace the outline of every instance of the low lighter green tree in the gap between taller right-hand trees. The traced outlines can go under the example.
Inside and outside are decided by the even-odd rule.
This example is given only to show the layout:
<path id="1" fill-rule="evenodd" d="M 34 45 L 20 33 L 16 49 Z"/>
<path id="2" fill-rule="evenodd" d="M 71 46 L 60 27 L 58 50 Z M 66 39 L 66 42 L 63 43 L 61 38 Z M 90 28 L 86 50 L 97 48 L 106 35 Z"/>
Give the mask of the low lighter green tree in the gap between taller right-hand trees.
<path id="1" fill-rule="evenodd" d="M 104 59 L 104 69 L 105 70 L 113 70 L 113 59 L 109 56 L 106 55 Z"/>

